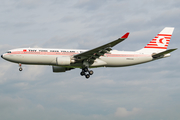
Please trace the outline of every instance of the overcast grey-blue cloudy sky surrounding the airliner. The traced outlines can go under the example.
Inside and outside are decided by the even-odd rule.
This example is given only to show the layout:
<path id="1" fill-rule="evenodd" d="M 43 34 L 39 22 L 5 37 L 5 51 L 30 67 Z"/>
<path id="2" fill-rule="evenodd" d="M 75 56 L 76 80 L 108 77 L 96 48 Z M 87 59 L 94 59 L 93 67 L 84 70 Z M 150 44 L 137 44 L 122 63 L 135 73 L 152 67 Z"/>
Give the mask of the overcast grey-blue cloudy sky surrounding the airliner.
<path id="1" fill-rule="evenodd" d="M 0 0 L 0 54 L 20 47 L 92 49 L 130 32 L 114 47 L 135 51 L 164 27 L 180 46 L 178 0 Z M 121 68 L 53 73 L 51 66 L 0 59 L 2 120 L 179 120 L 180 52 Z"/>

